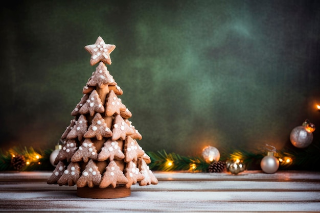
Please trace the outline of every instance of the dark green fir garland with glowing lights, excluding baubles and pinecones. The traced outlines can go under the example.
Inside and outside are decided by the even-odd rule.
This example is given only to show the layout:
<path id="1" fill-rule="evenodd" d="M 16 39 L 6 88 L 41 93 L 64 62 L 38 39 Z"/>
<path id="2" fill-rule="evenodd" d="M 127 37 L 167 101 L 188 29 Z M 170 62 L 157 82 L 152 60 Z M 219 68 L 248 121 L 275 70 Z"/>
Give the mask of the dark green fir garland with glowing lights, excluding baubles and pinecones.
<path id="1" fill-rule="evenodd" d="M 11 163 L 13 155 L 21 155 L 25 158 L 24 166 L 19 171 L 52 171 L 54 167 L 50 163 L 52 149 L 36 151 L 32 147 L 14 147 L 7 152 L 0 149 L 0 171 L 16 171 Z M 305 149 L 292 146 L 283 148 L 276 152 L 276 157 L 282 159 L 279 170 L 320 170 L 320 147 L 312 143 Z M 189 171 L 208 172 L 211 163 L 206 162 L 202 156 L 181 156 L 176 153 L 167 153 L 165 150 L 157 152 L 146 152 L 151 158 L 149 168 L 155 171 Z M 36 156 L 39 158 L 36 158 Z M 220 160 L 241 160 L 248 170 L 260 170 L 260 161 L 266 156 L 266 151 L 249 152 L 246 150 L 235 150 L 231 154 L 221 153 Z M 286 159 L 289 159 L 287 162 Z M 28 162 L 28 163 L 27 163 Z"/>

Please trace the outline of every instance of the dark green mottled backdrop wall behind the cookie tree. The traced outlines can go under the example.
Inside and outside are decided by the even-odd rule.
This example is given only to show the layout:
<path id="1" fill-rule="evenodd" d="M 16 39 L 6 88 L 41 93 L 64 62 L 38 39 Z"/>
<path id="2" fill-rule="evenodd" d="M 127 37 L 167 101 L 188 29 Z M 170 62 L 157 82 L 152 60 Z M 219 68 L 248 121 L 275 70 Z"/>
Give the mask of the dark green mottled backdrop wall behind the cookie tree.
<path id="1" fill-rule="evenodd" d="M 305 119 L 320 129 L 320 1 L 12 1 L 0 30 L 4 149 L 54 148 L 98 36 L 145 151 L 281 149 Z"/>

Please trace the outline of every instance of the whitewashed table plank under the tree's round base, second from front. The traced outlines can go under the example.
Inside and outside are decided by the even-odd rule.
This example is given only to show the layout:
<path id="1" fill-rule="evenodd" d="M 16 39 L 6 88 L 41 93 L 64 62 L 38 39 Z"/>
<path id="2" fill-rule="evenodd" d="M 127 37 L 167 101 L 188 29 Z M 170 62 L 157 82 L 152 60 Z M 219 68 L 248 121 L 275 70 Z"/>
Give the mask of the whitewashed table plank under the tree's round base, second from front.
<path id="1" fill-rule="evenodd" d="M 66 199 L 71 200 L 87 200 L 87 198 L 78 198 L 74 195 L 74 191 L 43 191 L 43 192 L 3 192 L 0 194 L 0 199 L 4 200 L 54 200 L 54 199 Z M 70 197 L 74 195 L 74 197 Z M 131 196 L 113 200 L 135 200 L 135 201 L 312 201 L 320 202 L 320 192 L 184 192 L 184 191 L 134 191 L 131 192 Z M 320 206 L 319 206 L 320 208 Z M 320 209 L 319 209 L 320 210 Z"/>

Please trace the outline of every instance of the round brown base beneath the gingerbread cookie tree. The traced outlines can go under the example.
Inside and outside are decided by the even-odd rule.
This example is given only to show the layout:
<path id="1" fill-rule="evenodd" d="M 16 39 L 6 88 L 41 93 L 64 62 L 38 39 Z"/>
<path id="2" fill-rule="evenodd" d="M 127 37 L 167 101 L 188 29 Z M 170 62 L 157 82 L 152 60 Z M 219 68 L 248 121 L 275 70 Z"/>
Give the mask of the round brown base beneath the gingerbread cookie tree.
<path id="1" fill-rule="evenodd" d="M 106 187 L 78 187 L 77 196 L 81 198 L 124 198 L 131 194 L 131 188 L 118 186 L 116 188 Z"/>

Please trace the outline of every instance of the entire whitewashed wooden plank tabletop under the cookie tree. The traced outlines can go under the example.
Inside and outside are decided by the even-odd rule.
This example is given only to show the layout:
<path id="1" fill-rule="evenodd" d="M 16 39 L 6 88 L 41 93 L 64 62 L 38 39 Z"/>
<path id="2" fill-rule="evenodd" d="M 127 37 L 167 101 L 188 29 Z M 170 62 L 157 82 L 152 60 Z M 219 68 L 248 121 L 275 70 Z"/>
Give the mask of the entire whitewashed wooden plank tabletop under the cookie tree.
<path id="1" fill-rule="evenodd" d="M 129 197 L 88 199 L 47 184 L 51 172 L 3 172 L 0 212 L 320 212 L 320 172 L 153 173 Z"/>

